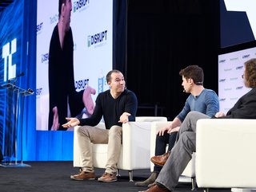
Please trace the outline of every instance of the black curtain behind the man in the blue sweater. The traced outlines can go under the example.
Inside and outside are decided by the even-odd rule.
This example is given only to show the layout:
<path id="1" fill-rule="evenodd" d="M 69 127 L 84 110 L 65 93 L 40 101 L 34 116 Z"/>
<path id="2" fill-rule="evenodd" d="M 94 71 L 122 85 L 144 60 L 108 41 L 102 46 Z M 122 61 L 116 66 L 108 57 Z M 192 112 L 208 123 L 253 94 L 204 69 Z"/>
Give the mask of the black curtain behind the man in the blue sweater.
<path id="1" fill-rule="evenodd" d="M 129 0 L 127 10 L 126 83 L 140 106 L 158 104 L 158 115 L 177 116 L 188 96 L 178 72 L 187 65 L 201 66 L 205 88 L 218 93 L 219 1 Z"/>

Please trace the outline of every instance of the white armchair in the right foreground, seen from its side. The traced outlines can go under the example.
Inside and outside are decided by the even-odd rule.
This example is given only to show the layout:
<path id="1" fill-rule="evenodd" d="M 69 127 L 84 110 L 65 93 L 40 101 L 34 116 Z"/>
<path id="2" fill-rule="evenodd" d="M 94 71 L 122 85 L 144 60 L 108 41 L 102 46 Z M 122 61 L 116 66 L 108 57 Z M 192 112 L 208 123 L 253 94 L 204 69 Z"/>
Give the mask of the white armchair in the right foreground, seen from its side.
<path id="1" fill-rule="evenodd" d="M 198 187 L 256 188 L 256 120 L 198 120 L 196 134 Z"/>

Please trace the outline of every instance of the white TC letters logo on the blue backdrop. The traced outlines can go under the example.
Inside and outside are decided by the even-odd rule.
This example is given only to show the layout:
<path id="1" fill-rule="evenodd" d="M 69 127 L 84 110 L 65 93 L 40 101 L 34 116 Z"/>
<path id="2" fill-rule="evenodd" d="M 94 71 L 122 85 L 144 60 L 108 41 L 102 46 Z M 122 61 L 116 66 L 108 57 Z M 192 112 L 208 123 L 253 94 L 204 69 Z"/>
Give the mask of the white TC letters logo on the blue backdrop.
<path id="1" fill-rule="evenodd" d="M 8 72 L 8 80 L 16 77 L 16 64 L 13 64 L 13 54 L 17 51 L 17 39 L 14 38 L 12 41 L 6 43 L 6 45 L 2 46 L 2 58 L 4 60 L 4 74 L 3 80 L 7 80 L 7 72 Z"/>

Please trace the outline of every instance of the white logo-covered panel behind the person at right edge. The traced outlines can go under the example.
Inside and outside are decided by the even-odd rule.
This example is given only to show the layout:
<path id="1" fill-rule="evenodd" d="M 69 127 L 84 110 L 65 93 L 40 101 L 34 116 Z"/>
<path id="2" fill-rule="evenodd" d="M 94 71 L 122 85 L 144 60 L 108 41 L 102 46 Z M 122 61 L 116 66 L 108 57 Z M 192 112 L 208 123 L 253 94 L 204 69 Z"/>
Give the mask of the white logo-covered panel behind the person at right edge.
<path id="1" fill-rule="evenodd" d="M 245 87 L 242 74 L 244 63 L 255 57 L 256 47 L 218 56 L 218 97 L 221 112 L 228 112 L 237 100 L 250 90 Z"/>

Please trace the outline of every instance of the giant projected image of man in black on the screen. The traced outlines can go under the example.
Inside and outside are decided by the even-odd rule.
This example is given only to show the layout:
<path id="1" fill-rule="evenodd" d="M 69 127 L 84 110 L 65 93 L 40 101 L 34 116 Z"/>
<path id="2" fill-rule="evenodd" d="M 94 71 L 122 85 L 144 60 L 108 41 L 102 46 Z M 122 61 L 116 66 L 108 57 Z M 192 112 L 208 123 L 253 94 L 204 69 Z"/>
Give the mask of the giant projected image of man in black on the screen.
<path id="1" fill-rule="evenodd" d="M 50 39 L 49 51 L 49 130 L 66 130 L 60 125 L 66 123 L 66 116 L 78 116 L 86 108 L 86 113 L 94 112 L 91 94 L 96 91 L 86 86 L 85 91 L 74 88 L 74 41 L 70 28 L 71 0 L 59 0 L 58 24 Z"/>

